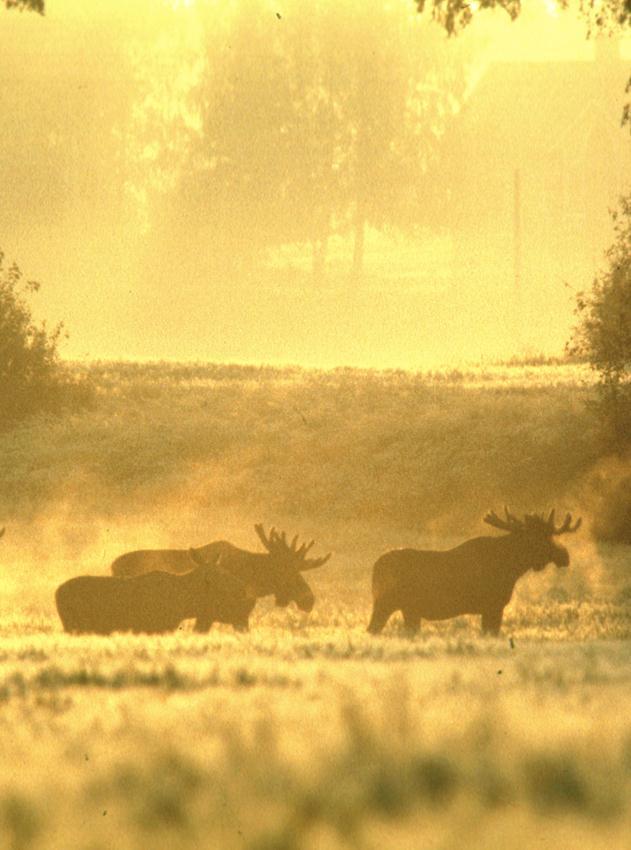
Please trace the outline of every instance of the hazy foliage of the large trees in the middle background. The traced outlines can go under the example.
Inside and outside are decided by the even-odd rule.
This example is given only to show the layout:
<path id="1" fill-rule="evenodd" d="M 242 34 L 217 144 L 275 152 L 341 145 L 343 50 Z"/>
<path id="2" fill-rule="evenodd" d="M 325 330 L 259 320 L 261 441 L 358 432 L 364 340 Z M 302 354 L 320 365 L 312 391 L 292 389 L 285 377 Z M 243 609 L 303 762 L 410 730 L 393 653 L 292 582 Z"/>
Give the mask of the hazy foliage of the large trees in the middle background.
<path id="1" fill-rule="evenodd" d="M 177 35 L 140 57 L 135 112 L 138 182 L 157 190 L 157 218 L 160 192 L 173 196 L 165 228 L 246 260 L 310 243 L 322 272 L 332 235 L 354 230 L 361 266 L 366 224 L 412 227 L 465 75 L 461 45 L 411 12 L 344 0 L 281 16 L 251 0 L 193 10 L 196 42 L 174 21 Z"/>

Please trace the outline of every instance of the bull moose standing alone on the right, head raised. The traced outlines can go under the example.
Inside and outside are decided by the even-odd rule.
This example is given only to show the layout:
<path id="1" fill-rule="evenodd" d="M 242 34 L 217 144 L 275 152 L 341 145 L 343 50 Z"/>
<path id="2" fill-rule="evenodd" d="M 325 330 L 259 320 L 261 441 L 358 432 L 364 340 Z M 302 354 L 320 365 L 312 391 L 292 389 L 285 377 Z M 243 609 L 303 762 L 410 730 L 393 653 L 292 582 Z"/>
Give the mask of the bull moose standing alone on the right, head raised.
<path id="1" fill-rule="evenodd" d="M 553 563 L 567 567 L 567 549 L 553 537 L 577 531 L 567 514 L 557 528 L 554 510 L 547 518 L 526 514 L 505 518 L 491 511 L 488 525 L 507 531 L 501 537 L 475 537 L 446 551 L 394 549 L 375 563 L 372 574 L 373 611 L 368 631 L 379 633 L 391 614 L 403 613 L 406 629 L 415 633 L 421 618 L 446 620 L 462 614 L 481 614 L 482 632 L 499 634 L 505 606 L 517 580 L 529 570 L 539 572 Z"/>

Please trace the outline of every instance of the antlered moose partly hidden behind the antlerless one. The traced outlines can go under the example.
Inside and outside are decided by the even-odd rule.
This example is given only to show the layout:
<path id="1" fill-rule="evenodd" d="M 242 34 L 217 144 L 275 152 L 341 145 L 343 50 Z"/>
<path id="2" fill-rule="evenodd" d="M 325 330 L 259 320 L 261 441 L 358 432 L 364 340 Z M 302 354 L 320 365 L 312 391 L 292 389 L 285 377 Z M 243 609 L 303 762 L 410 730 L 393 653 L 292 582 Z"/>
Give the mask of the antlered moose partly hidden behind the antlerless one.
<path id="1" fill-rule="evenodd" d="M 255 598 L 251 601 L 249 618 L 256 598 L 274 595 L 276 605 L 286 607 L 295 602 L 301 611 L 309 613 L 315 602 L 313 591 L 302 577 L 302 573 L 321 567 L 331 557 L 329 552 L 321 558 L 307 558 L 315 541 L 298 545 L 296 535 L 288 542 L 285 532 L 271 529 L 265 534 L 262 524 L 254 526 L 256 534 L 265 547 L 265 552 L 249 552 L 227 540 L 216 540 L 205 546 L 191 549 L 192 557 L 198 561 L 213 561 L 221 558 L 222 569 L 244 582 Z M 111 566 L 115 576 L 139 576 L 150 570 L 181 573 L 190 568 L 190 555 L 185 549 L 142 549 L 127 552 L 116 558 Z M 246 624 L 247 627 L 247 624 Z M 198 618 L 196 628 L 210 628 L 208 619 Z"/>

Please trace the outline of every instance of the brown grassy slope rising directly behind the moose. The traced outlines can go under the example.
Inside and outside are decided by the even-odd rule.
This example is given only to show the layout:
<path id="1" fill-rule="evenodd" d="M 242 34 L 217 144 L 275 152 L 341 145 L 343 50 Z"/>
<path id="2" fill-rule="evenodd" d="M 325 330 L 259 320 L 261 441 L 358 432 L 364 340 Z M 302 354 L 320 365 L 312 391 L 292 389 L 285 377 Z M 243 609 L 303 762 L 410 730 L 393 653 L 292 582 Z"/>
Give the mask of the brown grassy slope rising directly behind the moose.
<path id="1" fill-rule="evenodd" d="M 79 367 L 77 367 L 79 371 Z M 601 448 L 580 367 L 374 373 L 97 364 L 98 402 L 0 435 L 0 514 L 166 502 L 318 525 L 470 528 L 576 500 Z"/>

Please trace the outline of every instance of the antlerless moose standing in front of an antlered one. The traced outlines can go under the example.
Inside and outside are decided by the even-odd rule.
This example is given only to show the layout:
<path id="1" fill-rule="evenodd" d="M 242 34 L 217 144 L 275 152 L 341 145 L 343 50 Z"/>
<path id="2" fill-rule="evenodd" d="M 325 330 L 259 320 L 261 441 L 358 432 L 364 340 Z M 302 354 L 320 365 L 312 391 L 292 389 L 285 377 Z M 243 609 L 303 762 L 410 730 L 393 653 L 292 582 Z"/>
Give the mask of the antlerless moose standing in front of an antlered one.
<path id="1" fill-rule="evenodd" d="M 181 575 L 153 571 L 132 578 L 77 576 L 55 593 L 65 631 L 107 635 L 112 632 L 157 634 L 196 618 L 196 630 L 213 622 L 247 627 L 256 597 L 241 579 L 212 563 L 189 556 Z M 202 625 L 203 624 L 203 628 Z"/>

